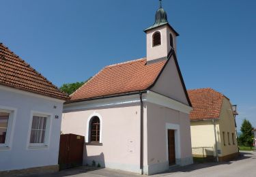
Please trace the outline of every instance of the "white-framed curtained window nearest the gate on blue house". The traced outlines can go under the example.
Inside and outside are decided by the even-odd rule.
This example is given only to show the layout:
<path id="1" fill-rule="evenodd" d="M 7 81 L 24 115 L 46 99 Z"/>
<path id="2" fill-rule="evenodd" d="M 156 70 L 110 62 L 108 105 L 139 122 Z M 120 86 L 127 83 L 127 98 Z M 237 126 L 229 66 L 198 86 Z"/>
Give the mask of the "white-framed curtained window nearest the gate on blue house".
<path id="1" fill-rule="evenodd" d="M 33 115 L 30 143 L 44 144 L 46 142 L 46 125 L 48 116 Z"/>

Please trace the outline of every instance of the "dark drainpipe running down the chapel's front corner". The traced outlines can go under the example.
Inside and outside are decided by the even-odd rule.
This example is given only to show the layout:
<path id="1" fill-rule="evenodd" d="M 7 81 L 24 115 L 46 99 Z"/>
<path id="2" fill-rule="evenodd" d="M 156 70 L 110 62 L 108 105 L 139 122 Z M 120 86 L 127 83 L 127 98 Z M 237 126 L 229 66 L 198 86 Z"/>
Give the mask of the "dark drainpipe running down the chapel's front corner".
<path id="1" fill-rule="evenodd" d="M 139 99 L 141 100 L 141 150 L 140 150 L 140 174 L 143 174 L 143 101 L 142 93 L 139 93 Z"/>

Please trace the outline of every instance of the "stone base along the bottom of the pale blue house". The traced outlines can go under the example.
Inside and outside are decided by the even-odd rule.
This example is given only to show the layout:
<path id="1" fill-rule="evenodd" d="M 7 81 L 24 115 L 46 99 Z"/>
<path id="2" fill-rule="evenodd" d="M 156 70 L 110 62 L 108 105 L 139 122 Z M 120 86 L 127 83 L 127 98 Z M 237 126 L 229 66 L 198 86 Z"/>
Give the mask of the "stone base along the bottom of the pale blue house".
<path id="1" fill-rule="evenodd" d="M 43 167 L 31 167 L 21 170 L 9 170 L 9 171 L 1 171 L 0 176 L 17 176 L 17 175 L 30 175 L 30 174 L 46 174 L 51 172 L 58 172 L 59 165 L 48 165 Z"/>

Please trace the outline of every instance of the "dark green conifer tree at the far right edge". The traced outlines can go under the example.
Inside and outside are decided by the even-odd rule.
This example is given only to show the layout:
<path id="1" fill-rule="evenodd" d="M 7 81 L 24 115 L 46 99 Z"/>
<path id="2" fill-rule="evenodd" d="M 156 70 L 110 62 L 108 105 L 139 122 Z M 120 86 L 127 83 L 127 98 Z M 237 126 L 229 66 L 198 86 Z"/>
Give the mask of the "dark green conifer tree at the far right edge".
<path id="1" fill-rule="evenodd" d="M 242 134 L 239 137 L 239 143 L 242 146 L 253 146 L 253 126 L 249 120 L 244 119 L 240 129 Z"/>

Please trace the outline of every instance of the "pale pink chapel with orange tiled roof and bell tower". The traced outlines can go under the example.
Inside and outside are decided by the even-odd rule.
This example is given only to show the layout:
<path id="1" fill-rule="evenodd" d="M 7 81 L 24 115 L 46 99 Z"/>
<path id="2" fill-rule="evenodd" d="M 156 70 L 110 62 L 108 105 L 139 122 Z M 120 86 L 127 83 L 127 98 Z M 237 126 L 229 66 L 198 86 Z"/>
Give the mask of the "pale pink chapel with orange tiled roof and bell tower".
<path id="1" fill-rule="evenodd" d="M 85 136 L 84 164 L 156 174 L 193 163 L 178 34 L 161 6 L 145 33 L 146 58 L 104 67 L 64 105 L 61 131 Z"/>

